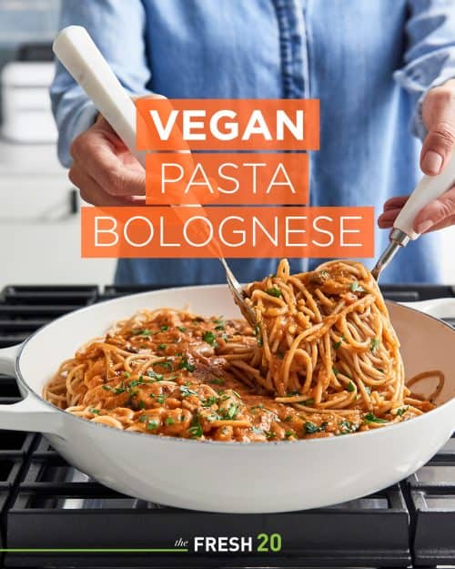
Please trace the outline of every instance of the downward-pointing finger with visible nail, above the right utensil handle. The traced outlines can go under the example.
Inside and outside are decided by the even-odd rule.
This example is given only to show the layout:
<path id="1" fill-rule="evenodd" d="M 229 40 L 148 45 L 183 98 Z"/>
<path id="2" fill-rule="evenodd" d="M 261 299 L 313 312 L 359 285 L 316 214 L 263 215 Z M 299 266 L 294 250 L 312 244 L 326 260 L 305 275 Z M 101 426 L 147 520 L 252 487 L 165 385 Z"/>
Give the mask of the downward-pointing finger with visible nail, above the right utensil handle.
<path id="1" fill-rule="evenodd" d="M 420 168 L 435 176 L 445 168 L 455 147 L 455 87 L 451 82 L 430 89 L 422 114 L 429 134 L 423 141 Z"/>

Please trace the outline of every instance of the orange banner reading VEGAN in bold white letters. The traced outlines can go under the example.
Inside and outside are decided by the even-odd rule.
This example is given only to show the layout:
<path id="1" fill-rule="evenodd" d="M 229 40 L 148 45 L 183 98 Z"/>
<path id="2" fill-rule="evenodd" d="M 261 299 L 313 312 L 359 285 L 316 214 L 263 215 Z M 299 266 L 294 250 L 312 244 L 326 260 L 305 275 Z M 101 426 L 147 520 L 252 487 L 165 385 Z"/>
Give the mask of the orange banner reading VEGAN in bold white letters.
<path id="1" fill-rule="evenodd" d="M 319 99 L 136 99 L 139 150 L 318 150 Z"/>

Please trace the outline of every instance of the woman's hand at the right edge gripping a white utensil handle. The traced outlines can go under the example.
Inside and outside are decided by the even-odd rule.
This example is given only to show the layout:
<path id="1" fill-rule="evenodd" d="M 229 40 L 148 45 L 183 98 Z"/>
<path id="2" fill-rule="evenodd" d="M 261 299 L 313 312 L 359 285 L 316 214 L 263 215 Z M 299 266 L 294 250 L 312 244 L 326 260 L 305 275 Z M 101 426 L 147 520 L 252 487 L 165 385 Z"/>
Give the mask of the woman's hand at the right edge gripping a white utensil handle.
<path id="1" fill-rule="evenodd" d="M 436 176 L 446 166 L 455 149 L 455 79 L 431 89 L 423 100 L 422 118 L 428 135 L 420 153 L 420 168 Z M 379 216 L 379 228 L 391 228 L 408 196 L 390 198 Z M 417 233 L 455 225 L 455 186 L 420 210 L 414 220 Z"/>

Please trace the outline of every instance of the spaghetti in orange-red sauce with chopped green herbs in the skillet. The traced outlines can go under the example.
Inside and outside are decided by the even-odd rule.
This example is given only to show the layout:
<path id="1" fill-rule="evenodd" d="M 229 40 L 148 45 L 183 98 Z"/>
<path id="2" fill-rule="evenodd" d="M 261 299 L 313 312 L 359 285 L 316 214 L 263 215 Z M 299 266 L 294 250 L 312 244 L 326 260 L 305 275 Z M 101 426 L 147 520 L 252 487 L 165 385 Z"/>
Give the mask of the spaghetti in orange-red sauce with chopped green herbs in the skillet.
<path id="1" fill-rule="evenodd" d="M 64 361 L 45 399 L 128 431 L 244 442 L 364 431 L 433 408 L 405 386 L 387 308 L 360 263 L 290 275 L 283 260 L 246 294 L 257 330 L 141 310 Z"/>

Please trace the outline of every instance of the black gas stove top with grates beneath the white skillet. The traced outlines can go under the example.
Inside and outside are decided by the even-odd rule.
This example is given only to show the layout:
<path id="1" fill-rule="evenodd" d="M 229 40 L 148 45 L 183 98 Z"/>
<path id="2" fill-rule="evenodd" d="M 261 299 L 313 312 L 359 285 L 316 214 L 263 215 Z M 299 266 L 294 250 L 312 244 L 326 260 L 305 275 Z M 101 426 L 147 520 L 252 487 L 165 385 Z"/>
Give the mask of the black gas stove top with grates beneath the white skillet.
<path id="1" fill-rule="evenodd" d="M 0 347 L 25 340 L 71 310 L 146 290 L 151 288 L 6 287 L 0 294 Z M 455 297 L 455 287 L 386 286 L 383 291 L 398 301 Z M 15 380 L 0 376 L 0 404 L 19 397 Z M 77 472 L 41 435 L 0 431 L 0 529 L 2 547 L 27 549 L 172 548 L 176 536 L 196 534 L 268 532 L 285 540 L 283 552 L 267 555 L 7 553 L 5 567 L 455 564 L 455 438 L 408 481 L 372 496 L 307 512 L 236 515 L 127 497 Z"/>

